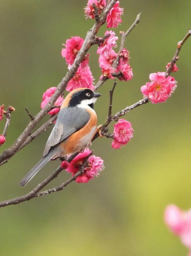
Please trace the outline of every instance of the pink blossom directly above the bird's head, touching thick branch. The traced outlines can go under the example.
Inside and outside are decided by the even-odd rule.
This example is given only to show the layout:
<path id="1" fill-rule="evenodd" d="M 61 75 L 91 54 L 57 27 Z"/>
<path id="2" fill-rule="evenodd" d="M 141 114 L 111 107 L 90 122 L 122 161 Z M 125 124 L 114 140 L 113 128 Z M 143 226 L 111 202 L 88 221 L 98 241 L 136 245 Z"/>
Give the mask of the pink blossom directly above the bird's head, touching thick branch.
<path id="1" fill-rule="evenodd" d="M 70 66 L 69 66 L 70 67 Z M 78 67 L 73 78 L 68 82 L 66 90 L 71 92 L 77 88 L 89 88 L 94 90 L 93 86 L 93 76 L 90 71 L 89 66 L 82 68 L 82 66 Z"/>

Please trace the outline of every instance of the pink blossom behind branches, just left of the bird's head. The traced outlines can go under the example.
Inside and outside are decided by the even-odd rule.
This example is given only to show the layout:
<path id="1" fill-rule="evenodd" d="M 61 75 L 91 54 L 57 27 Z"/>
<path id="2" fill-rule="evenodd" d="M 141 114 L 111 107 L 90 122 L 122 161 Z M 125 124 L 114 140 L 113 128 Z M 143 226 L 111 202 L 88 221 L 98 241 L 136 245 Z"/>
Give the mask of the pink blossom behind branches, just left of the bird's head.
<path id="1" fill-rule="evenodd" d="M 47 105 L 47 103 L 49 102 L 49 100 L 51 99 L 55 91 L 56 91 L 56 87 L 51 87 L 46 92 L 43 93 L 41 109 L 43 109 Z M 61 106 L 63 103 L 63 100 L 64 99 L 61 96 L 59 96 L 56 102 L 54 103 L 54 105 Z M 58 113 L 58 111 L 60 111 L 60 108 L 54 108 L 51 111 L 49 111 L 49 115 L 55 115 L 56 113 Z"/>

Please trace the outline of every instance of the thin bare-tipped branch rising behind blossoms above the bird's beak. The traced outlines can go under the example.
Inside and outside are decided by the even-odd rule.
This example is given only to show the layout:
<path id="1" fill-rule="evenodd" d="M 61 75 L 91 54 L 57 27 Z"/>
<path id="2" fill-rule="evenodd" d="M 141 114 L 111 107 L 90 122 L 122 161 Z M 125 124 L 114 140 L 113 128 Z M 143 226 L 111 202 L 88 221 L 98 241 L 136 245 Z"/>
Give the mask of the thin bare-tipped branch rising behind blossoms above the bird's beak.
<path id="1" fill-rule="evenodd" d="M 117 67 L 117 65 L 119 64 L 119 53 L 120 51 L 124 48 L 124 44 L 125 44 L 125 40 L 126 37 L 129 35 L 129 33 L 133 30 L 133 28 L 139 23 L 140 21 L 140 14 L 141 12 L 137 15 L 137 18 L 135 19 L 135 21 L 133 22 L 133 24 L 129 27 L 129 29 L 126 31 L 126 33 L 121 33 L 121 42 L 120 42 L 120 48 L 118 51 L 118 56 L 115 59 L 114 63 L 113 63 L 113 68 L 115 69 Z M 113 75 L 113 74 L 112 74 Z M 115 77 L 119 77 L 120 73 L 114 73 Z M 102 86 L 109 78 L 108 77 L 104 77 L 102 79 L 100 79 L 94 86 L 95 90 L 97 90 L 100 86 Z"/>

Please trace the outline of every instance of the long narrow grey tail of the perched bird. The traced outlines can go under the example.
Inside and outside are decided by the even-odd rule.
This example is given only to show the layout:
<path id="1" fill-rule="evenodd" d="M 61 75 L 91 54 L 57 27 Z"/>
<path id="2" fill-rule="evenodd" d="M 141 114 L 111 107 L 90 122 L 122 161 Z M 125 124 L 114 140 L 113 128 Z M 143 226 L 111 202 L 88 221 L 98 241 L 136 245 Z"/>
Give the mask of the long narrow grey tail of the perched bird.
<path id="1" fill-rule="evenodd" d="M 24 187 L 38 172 L 43 166 L 54 157 L 55 151 L 50 150 L 46 156 L 43 158 L 30 170 L 30 172 L 25 175 L 25 177 L 20 181 L 19 185 Z"/>

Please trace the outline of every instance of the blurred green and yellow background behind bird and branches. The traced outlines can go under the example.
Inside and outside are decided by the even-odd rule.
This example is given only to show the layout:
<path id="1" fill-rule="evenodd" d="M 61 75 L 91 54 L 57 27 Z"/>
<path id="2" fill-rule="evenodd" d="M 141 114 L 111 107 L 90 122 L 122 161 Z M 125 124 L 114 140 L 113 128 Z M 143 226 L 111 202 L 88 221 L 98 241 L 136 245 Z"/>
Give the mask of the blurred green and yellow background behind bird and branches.
<path id="1" fill-rule="evenodd" d="M 0 1 L 0 104 L 16 108 L 6 143 L 12 145 L 29 117 L 38 113 L 43 92 L 57 86 L 67 72 L 62 43 L 71 36 L 85 37 L 93 20 L 85 20 L 87 1 Z M 176 44 L 190 27 L 190 1 L 120 1 L 126 30 L 141 11 L 139 25 L 128 36 L 133 79 L 118 82 L 113 113 L 142 98 L 140 86 L 149 74 L 165 71 Z M 98 35 L 106 30 L 103 26 Z M 166 103 L 148 103 L 129 112 L 134 136 L 120 150 L 110 139 L 97 139 L 92 148 L 105 161 L 105 170 L 87 184 L 71 183 L 62 192 L 0 209 L 1 255 L 186 255 L 187 249 L 163 222 L 164 208 L 175 203 L 191 207 L 190 56 L 191 41 L 180 52 L 175 93 Z M 90 50 L 95 82 L 100 77 L 96 46 Z M 107 81 L 95 105 L 98 123 L 108 109 Z M 48 120 L 48 116 L 43 119 Z M 0 134 L 5 120 L 0 122 Z M 41 122 L 42 124 L 42 122 Z M 52 129 L 52 128 L 51 128 Z M 24 188 L 21 178 L 38 162 L 51 129 L 41 134 L 0 168 L 0 199 L 30 191 L 57 166 L 51 161 Z M 109 127 L 113 130 L 113 124 Z M 49 184 L 70 177 L 63 172 Z"/>

